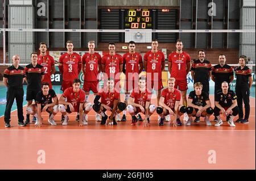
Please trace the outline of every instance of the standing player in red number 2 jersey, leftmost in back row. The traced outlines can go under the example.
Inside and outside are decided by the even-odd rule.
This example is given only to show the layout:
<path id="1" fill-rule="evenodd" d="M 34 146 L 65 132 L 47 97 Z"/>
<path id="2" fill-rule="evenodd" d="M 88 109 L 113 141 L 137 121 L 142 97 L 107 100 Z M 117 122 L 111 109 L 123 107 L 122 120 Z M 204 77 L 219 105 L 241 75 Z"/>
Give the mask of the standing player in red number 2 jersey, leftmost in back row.
<path id="1" fill-rule="evenodd" d="M 54 59 L 46 53 L 47 44 L 45 42 L 39 44 L 39 50 L 38 64 L 44 67 L 44 79 L 42 82 L 48 82 L 49 89 L 52 89 L 51 75 L 55 73 Z"/>

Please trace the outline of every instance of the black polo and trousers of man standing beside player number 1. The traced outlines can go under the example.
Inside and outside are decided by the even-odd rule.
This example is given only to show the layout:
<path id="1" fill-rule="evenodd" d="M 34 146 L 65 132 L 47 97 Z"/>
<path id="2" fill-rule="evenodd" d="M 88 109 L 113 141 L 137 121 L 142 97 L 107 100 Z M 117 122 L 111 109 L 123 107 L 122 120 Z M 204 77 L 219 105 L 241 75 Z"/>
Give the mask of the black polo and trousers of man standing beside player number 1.
<path id="1" fill-rule="evenodd" d="M 204 92 L 209 94 L 209 74 L 212 71 L 212 65 L 208 60 L 201 62 L 199 59 L 194 61 L 191 67 L 191 71 L 194 71 L 194 83 L 201 82 L 203 84 Z"/>

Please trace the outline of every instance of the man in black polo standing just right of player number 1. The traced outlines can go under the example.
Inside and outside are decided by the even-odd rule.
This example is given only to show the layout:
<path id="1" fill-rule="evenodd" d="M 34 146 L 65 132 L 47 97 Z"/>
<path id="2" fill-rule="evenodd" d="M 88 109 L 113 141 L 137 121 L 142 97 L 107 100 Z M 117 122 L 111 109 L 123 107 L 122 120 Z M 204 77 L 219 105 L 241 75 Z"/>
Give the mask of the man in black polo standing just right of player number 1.
<path id="1" fill-rule="evenodd" d="M 199 50 L 198 51 L 199 59 L 193 61 L 191 67 L 191 77 L 193 78 L 194 82 L 201 82 L 203 84 L 204 92 L 207 92 L 209 95 L 209 79 L 212 75 L 212 65 L 208 60 L 205 60 L 205 51 Z M 196 117 L 194 120 L 196 123 L 200 121 L 200 117 Z"/>

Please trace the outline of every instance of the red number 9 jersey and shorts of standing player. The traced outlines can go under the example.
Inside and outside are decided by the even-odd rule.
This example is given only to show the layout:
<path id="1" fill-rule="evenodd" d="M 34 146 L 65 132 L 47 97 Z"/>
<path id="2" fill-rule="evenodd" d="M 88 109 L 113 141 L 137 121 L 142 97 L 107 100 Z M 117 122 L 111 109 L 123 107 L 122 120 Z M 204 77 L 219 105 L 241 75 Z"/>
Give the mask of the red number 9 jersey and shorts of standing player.
<path id="1" fill-rule="evenodd" d="M 85 65 L 84 86 L 82 89 L 86 92 L 92 90 L 97 93 L 98 86 L 98 66 L 101 65 L 101 56 L 98 53 L 85 53 L 82 56 L 82 64 Z"/>

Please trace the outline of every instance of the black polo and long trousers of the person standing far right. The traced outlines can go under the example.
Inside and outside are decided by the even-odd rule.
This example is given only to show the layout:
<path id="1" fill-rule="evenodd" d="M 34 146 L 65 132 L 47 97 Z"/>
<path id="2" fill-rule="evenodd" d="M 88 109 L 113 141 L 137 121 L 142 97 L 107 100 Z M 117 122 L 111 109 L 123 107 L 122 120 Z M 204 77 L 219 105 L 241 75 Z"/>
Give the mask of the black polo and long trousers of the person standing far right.
<path id="1" fill-rule="evenodd" d="M 249 77 L 251 77 L 251 70 L 245 66 L 241 69 L 241 66 L 236 69 L 236 94 L 237 105 L 239 108 L 239 117 L 243 119 L 243 103 L 245 104 L 245 120 L 249 119 L 250 115 L 250 87 Z"/>

